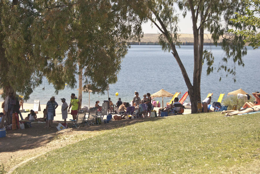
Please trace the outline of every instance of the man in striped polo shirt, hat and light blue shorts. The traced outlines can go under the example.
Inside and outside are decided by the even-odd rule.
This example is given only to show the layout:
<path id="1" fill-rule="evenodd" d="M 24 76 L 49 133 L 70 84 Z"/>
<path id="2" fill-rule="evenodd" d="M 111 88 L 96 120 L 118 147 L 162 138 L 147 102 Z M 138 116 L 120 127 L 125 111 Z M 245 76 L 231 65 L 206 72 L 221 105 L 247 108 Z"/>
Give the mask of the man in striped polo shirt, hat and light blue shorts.
<path id="1" fill-rule="evenodd" d="M 55 109 L 58 107 L 58 103 L 55 101 L 55 97 L 52 96 L 51 100 L 47 102 L 46 112 L 48 114 L 47 129 L 50 129 L 54 120 Z"/>

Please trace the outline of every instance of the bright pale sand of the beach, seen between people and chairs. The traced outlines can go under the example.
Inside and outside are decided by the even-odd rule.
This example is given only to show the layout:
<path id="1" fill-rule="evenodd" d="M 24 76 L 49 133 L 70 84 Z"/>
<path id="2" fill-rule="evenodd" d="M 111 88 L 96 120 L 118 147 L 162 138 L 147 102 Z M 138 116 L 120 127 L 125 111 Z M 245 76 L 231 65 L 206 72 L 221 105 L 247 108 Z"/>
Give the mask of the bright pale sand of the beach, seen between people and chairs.
<path id="1" fill-rule="evenodd" d="M 1 105 L 2 105 L 2 102 L 1 102 Z M 69 105 L 69 103 L 68 103 Z M 34 108 L 34 104 L 33 103 L 23 103 L 23 109 L 27 110 L 31 110 Z M 38 114 L 37 114 L 37 118 L 43 118 L 43 110 L 46 108 L 46 105 L 45 104 L 40 104 L 40 109 L 41 111 L 38 111 Z M 22 107 L 20 108 L 22 109 Z M 154 110 L 157 111 L 158 113 L 158 110 L 159 108 L 154 108 Z M 2 112 L 2 111 L 1 111 Z M 62 113 L 61 113 L 61 105 L 59 105 L 57 107 L 57 109 L 55 110 L 55 113 L 56 113 L 56 116 L 54 117 L 54 121 L 63 121 L 62 120 Z M 183 114 L 190 114 L 191 113 L 191 110 L 190 109 L 184 109 L 184 113 Z M 22 112 L 22 116 L 23 118 L 27 117 L 27 115 L 29 114 L 29 112 Z M 113 116 L 116 115 L 116 114 L 112 114 Z M 104 116 L 104 119 L 106 117 Z M 70 113 L 68 113 L 68 119 L 67 121 L 69 121 L 69 119 L 72 119 L 72 115 Z"/>

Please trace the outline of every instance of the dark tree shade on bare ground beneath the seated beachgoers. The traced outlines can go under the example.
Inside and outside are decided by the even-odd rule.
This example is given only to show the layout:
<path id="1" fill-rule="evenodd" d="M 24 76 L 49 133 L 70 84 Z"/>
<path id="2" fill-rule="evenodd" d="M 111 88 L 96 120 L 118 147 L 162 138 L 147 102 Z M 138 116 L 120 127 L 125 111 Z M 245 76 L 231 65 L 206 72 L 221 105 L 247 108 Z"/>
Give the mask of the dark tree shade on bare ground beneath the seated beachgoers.
<path id="1" fill-rule="evenodd" d="M 180 115 L 179 115 L 180 116 Z M 155 118 L 137 118 L 137 119 L 122 119 L 122 120 L 113 120 L 106 124 L 100 125 L 85 125 L 80 124 L 79 128 L 70 128 L 66 131 L 58 132 L 56 126 L 59 122 L 53 123 L 53 128 L 46 129 L 45 123 L 33 123 L 32 127 L 27 129 L 16 129 L 16 130 L 7 130 L 6 137 L 1 138 L 0 141 L 0 152 L 14 152 L 19 150 L 33 149 L 40 146 L 43 146 L 51 142 L 58 134 L 66 133 L 71 131 L 101 131 L 116 129 L 118 127 L 124 127 L 132 125 L 135 123 L 142 123 L 146 121 L 157 121 L 161 117 Z M 68 122 L 68 127 L 71 127 L 71 122 Z"/>

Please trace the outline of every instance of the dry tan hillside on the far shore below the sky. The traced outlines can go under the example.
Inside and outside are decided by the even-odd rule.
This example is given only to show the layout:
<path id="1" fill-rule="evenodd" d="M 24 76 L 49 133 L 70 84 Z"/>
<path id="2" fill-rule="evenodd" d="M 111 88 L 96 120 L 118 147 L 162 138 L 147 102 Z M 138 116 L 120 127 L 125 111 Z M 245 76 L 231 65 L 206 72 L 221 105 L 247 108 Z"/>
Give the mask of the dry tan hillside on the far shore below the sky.
<path id="1" fill-rule="evenodd" d="M 144 34 L 144 37 L 141 38 L 141 42 L 158 42 L 158 36 L 159 34 Z M 220 41 L 221 40 L 218 42 Z M 180 34 L 179 42 L 193 42 L 193 34 Z M 211 34 L 204 34 L 204 42 L 213 42 L 211 40 Z"/>

